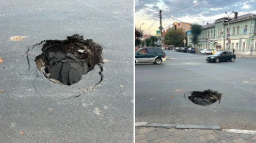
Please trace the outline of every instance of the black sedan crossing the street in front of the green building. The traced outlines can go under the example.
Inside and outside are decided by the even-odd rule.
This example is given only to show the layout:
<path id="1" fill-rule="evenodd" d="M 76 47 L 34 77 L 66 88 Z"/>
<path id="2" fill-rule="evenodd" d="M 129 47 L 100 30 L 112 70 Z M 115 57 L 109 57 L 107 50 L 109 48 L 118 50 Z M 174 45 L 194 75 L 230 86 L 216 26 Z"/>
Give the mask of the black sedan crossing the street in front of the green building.
<path id="1" fill-rule="evenodd" d="M 221 61 L 231 61 L 234 62 L 236 59 L 236 54 L 230 51 L 219 51 L 211 56 L 206 57 L 206 61 L 208 62 L 216 62 L 219 63 Z"/>

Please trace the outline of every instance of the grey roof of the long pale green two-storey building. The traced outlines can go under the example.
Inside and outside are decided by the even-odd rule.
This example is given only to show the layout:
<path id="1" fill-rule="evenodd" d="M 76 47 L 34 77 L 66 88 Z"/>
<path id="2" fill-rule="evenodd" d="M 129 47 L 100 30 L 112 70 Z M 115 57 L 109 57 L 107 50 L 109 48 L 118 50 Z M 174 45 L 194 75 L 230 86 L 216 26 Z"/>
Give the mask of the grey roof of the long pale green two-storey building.
<path id="1" fill-rule="evenodd" d="M 241 16 L 237 16 L 237 19 L 233 18 L 229 18 L 230 19 L 230 23 L 234 23 L 234 22 L 239 22 L 239 21 L 243 21 L 243 20 L 247 20 L 250 18 L 256 18 L 256 14 L 252 14 L 252 13 L 248 13 L 248 14 L 243 14 Z M 215 22 L 221 22 L 221 21 L 228 21 L 228 17 L 223 17 L 223 18 L 219 18 L 217 20 L 215 20 Z M 206 29 L 206 28 L 211 28 L 211 27 L 215 27 L 215 22 L 211 23 L 211 24 L 206 24 L 202 26 L 202 29 Z M 226 23 L 228 24 L 228 23 Z"/>

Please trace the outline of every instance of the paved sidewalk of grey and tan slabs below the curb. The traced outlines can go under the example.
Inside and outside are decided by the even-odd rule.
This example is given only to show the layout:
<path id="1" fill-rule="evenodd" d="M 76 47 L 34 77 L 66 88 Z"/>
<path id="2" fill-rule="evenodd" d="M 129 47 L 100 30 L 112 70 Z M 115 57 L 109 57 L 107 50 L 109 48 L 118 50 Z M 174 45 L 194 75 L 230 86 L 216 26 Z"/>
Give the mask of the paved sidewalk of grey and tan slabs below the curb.
<path id="1" fill-rule="evenodd" d="M 136 127 L 135 143 L 256 143 L 256 134 L 209 129 Z"/>

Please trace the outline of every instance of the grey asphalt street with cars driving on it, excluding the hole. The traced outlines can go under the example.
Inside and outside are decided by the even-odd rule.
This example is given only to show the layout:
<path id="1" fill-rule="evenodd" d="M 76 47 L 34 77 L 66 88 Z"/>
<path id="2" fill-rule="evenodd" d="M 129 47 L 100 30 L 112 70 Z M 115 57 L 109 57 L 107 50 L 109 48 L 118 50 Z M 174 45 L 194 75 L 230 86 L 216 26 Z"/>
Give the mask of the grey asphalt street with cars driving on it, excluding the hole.
<path id="1" fill-rule="evenodd" d="M 161 65 L 135 65 L 136 122 L 256 130 L 256 58 L 208 63 L 205 55 L 165 53 L 171 60 Z M 220 104 L 196 105 L 185 94 L 207 89 L 222 94 Z"/>

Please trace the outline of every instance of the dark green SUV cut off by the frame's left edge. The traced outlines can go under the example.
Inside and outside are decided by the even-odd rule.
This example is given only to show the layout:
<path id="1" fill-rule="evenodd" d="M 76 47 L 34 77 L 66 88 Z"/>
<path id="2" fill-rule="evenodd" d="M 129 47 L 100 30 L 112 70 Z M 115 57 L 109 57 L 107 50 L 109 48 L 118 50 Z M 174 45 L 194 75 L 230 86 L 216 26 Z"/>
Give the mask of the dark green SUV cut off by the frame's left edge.
<path id="1" fill-rule="evenodd" d="M 135 63 L 153 62 L 161 64 L 165 60 L 165 53 L 160 48 L 143 48 L 135 52 Z"/>

